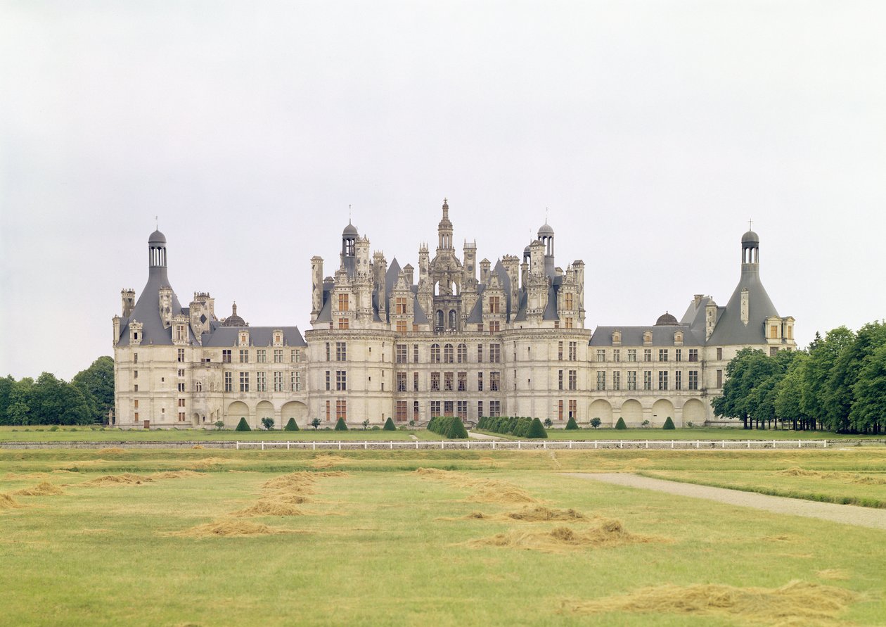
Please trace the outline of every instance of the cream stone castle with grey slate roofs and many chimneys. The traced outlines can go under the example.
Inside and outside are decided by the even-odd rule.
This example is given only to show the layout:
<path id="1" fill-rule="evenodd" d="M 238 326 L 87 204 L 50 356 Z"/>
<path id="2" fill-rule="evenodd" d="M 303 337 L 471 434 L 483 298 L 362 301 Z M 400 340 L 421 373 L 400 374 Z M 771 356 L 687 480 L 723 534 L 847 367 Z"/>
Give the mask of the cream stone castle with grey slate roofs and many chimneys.
<path id="1" fill-rule="evenodd" d="M 585 328 L 585 264 L 558 267 L 544 223 L 522 260 L 456 254 L 443 202 L 433 258 L 418 249 L 418 278 L 396 259 L 369 255 L 348 223 L 338 269 L 311 259 L 311 328 L 250 326 L 215 316 L 195 293 L 182 307 L 167 278 L 167 240 L 148 239 L 148 282 L 121 292 L 113 317 L 115 424 L 202 427 L 241 418 L 282 427 L 423 424 L 433 416 L 530 416 L 612 426 L 670 417 L 712 419 L 728 361 L 742 348 L 794 350 L 794 318 L 780 317 L 759 277 L 759 239 L 742 236 L 741 276 L 726 306 L 697 294 L 680 320 Z M 479 265 L 479 276 L 478 276 Z"/>

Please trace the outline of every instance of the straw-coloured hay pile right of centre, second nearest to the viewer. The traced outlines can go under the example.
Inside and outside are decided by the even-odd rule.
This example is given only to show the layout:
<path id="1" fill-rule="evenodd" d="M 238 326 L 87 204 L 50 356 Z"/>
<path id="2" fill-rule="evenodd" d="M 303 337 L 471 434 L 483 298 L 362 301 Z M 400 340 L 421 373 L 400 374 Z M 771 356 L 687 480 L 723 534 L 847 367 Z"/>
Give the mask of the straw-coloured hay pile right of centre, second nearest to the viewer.
<path id="1" fill-rule="evenodd" d="M 503 546 L 514 549 L 563 553 L 584 548 L 635 545 L 654 542 L 656 538 L 628 533 L 621 521 L 603 520 L 597 527 L 574 530 L 555 527 L 548 531 L 515 531 L 470 540 L 470 546 Z"/>

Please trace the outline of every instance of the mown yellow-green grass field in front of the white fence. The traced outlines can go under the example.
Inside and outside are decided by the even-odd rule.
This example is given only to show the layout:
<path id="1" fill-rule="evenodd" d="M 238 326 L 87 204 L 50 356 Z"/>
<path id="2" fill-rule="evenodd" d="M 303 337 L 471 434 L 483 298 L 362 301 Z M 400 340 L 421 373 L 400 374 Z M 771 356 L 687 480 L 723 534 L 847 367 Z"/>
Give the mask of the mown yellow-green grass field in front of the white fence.
<path id="1" fill-rule="evenodd" d="M 0 451 L 0 623 L 882 624 L 882 531 L 562 474 L 791 468 L 886 451 Z M 42 482 L 63 494 L 16 494 Z M 571 520 L 509 517 L 530 510 Z"/>

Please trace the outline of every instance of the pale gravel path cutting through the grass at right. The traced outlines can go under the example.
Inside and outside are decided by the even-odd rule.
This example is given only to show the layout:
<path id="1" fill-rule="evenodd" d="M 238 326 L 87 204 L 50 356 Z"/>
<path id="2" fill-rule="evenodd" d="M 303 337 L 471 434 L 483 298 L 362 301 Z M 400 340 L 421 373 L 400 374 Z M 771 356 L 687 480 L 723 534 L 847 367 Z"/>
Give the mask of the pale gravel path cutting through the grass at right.
<path id="1" fill-rule="evenodd" d="M 641 490 L 657 490 L 676 494 L 680 497 L 707 498 L 711 501 L 728 503 L 729 505 L 742 507 L 756 507 L 768 512 L 788 513 L 794 516 L 806 516 L 807 518 L 820 518 L 823 521 L 842 522 L 847 525 L 859 527 L 871 527 L 873 529 L 886 529 L 886 510 L 874 509 L 873 507 L 843 506 L 835 503 L 818 503 L 806 501 L 802 498 L 771 497 L 767 494 L 755 492 L 743 492 L 742 490 L 727 490 L 725 488 L 711 488 L 706 485 L 695 483 L 669 482 L 663 479 L 650 479 L 636 474 L 596 474 L 596 473 L 570 473 L 568 476 L 581 479 L 591 479 L 597 482 L 614 483 L 615 485 L 628 488 L 640 488 Z"/>

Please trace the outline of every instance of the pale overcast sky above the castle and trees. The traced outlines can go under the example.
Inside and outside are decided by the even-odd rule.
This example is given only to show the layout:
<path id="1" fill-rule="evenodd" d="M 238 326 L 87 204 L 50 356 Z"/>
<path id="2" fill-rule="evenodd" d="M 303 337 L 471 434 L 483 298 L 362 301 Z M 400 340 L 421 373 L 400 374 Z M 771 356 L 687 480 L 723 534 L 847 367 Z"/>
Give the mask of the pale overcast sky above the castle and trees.
<path id="1" fill-rule="evenodd" d="M 183 304 L 309 328 L 348 206 L 417 267 L 545 221 L 587 326 L 726 304 L 753 219 L 797 341 L 886 311 L 886 4 L 0 0 L 0 375 L 112 355 L 154 216 Z"/>

